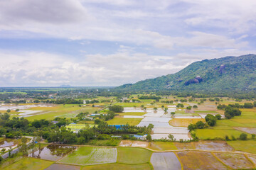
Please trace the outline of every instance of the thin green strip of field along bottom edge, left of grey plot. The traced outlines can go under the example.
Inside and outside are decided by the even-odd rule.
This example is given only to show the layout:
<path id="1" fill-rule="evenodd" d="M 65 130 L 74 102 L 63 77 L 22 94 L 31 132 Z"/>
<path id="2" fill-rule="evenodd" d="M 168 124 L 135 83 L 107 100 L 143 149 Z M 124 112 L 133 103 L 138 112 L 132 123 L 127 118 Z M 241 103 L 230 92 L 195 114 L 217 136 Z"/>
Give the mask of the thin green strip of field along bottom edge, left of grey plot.
<path id="1" fill-rule="evenodd" d="M 107 169 L 107 170 L 121 170 L 121 169 L 127 169 L 127 170 L 148 170 L 151 169 L 151 166 L 149 164 L 103 164 L 103 165 L 92 165 L 92 166 L 84 166 L 82 170 L 97 170 L 97 169 Z"/>

